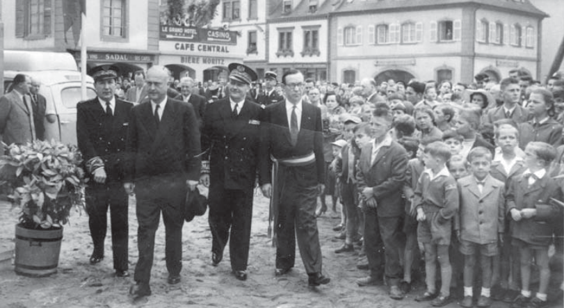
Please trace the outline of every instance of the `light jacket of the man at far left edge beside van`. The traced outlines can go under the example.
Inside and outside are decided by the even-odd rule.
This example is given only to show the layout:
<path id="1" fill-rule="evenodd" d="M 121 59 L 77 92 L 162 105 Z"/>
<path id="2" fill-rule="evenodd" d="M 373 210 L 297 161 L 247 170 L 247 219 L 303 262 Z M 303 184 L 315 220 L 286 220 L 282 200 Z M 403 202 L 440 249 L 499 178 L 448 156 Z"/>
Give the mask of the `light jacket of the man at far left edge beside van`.
<path id="1" fill-rule="evenodd" d="M 28 102 L 27 105 L 24 100 Z M 16 90 L 11 90 L 0 98 L 0 135 L 6 145 L 33 141 L 35 122 L 28 95 L 21 99 Z"/>

